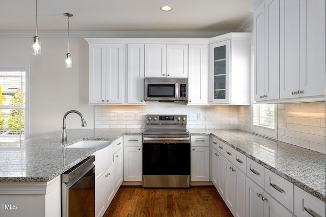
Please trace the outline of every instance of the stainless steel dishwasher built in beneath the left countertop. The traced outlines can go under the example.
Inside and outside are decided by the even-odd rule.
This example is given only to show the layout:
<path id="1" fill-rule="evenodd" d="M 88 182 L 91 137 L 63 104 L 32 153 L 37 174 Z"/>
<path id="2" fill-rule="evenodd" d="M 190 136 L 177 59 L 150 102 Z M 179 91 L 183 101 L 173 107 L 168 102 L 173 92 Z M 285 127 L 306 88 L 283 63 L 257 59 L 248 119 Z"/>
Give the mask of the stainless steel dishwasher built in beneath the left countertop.
<path id="1" fill-rule="evenodd" d="M 90 156 L 61 175 L 63 217 L 95 216 L 95 156 Z"/>

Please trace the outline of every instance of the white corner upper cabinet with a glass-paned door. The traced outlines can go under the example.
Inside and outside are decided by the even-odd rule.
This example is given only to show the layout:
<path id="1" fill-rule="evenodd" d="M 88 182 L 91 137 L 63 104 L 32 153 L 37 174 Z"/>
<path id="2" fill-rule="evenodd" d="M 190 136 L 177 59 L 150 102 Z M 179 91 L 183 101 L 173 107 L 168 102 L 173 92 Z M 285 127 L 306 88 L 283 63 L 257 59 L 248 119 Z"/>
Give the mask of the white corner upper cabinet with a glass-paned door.
<path id="1" fill-rule="evenodd" d="M 250 33 L 211 38 L 209 104 L 250 105 Z M 220 39 L 220 41 L 218 41 Z"/>

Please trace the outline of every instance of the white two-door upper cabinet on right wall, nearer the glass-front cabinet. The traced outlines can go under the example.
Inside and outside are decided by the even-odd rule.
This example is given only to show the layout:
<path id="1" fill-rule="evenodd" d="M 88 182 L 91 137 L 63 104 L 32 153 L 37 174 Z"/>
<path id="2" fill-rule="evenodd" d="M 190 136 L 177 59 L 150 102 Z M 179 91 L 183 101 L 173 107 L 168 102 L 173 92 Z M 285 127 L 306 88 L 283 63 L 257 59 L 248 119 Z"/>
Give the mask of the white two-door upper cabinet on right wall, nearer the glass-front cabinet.
<path id="1" fill-rule="evenodd" d="M 254 101 L 279 99 L 280 0 L 267 0 L 254 13 Z"/>

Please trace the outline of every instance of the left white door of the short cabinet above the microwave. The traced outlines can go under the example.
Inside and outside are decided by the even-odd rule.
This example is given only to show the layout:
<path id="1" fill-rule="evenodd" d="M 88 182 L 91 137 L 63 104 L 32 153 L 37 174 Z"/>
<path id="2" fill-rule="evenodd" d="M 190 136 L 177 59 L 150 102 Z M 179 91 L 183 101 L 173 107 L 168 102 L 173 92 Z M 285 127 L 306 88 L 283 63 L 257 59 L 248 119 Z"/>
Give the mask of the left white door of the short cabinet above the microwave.
<path id="1" fill-rule="evenodd" d="M 145 45 L 145 77 L 166 77 L 167 45 Z"/>

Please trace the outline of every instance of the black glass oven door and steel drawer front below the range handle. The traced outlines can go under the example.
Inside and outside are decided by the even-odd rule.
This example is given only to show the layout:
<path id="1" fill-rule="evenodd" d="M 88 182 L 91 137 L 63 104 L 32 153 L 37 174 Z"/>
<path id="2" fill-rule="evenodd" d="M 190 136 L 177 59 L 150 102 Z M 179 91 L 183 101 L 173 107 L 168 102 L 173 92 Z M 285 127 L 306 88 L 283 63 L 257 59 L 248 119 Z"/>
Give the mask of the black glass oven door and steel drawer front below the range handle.
<path id="1" fill-rule="evenodd" d="M 190 143 L 143 143 L 144 188 L 189 188 Z"/>

